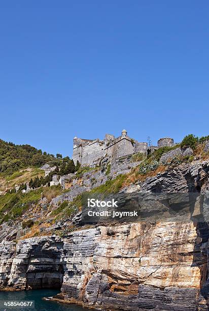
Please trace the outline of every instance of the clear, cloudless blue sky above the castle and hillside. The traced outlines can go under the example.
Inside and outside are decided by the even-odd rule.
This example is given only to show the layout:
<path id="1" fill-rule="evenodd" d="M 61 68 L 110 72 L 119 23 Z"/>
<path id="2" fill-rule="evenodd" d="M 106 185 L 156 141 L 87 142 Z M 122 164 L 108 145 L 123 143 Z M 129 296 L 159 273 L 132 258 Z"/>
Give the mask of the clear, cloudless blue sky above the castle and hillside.
<path id="1" fill-rule="evenodd" d="M 209 135 L 208 0 L 0 3 L 0 138 Z"/>

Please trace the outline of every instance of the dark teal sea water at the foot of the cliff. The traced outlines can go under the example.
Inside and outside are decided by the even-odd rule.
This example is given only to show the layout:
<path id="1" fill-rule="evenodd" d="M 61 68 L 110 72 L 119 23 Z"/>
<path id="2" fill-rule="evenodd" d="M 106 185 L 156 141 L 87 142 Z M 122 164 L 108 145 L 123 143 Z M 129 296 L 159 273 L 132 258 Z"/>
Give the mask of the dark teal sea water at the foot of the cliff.
<path id="1" fill-rule="evenodd" d="M 80 306 L 73 305 L 73 304 L 63 304 L 58 303 L 55 301 L 45 301 L 42 300 L 42 297 L 51 297 L 58 294 L 59 291 L 56 290 L 31 290 L 31 291 L 21 291 L 21 292 L 0 292 L 0 310 L 7 311 L 11 310 L 18 310 L 18 311 L 84 311 L 89 309 L 84 309 Z M 16 307 L 11 308 L 4 306 L 3 301 L 10 300 L 10 301 L 34 301 L 35 307 L 34 308 L 27 308 L 27 307 Z"/>

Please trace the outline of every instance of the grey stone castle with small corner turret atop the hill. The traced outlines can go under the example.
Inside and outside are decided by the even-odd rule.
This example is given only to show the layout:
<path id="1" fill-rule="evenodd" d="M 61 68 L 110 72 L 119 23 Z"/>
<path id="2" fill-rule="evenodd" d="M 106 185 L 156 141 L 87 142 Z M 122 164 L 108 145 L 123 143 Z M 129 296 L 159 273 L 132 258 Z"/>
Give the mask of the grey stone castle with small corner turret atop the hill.
<path id="1" fill-rule="evenodd" d="M 98 165 L 102 158 L 109 157 L 111 163 L 124 155 L 142 152 L 145 155 L 152 153 L 162 146 L 173 146 L 172 138 L 160 138 L 157 146 L 148 145 L 147 142 L 138 142 L 127 135 L 123 130 L 121 136 L 106 134 L 104 140 L 74 138 L 73 160 L 77 160 L 82 166 Z"/>

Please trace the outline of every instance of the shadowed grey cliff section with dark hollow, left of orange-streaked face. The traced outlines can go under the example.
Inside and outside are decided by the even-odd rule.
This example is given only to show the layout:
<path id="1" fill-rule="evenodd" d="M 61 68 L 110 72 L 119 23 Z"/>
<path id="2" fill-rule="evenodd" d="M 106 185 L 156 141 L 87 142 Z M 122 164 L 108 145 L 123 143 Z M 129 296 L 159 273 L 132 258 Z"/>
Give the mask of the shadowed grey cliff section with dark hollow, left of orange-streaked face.
<path id="1" fill-rule="evenodd" d="M 59 288 L 63 265 L 63 242 L 56 237 L 31 238 L 0 244 L 0 288 Z"/>

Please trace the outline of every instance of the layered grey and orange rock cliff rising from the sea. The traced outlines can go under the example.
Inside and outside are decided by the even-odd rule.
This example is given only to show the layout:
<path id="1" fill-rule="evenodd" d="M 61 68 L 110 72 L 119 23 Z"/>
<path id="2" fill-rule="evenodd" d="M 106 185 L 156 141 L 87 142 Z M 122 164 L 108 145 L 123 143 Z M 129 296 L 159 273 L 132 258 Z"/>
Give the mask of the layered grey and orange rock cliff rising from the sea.
<path id="1" fill-rule="evenodd" d="M 3 241 L 1 289 L 56 287 L 54 299 L 105 310 L 208 309 L 208 174 L 208 161 L 183 163 L 121 191 L 134 199 L 141 192 L 197 193 L 188 219 Z"/>

